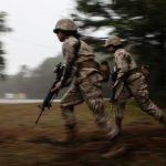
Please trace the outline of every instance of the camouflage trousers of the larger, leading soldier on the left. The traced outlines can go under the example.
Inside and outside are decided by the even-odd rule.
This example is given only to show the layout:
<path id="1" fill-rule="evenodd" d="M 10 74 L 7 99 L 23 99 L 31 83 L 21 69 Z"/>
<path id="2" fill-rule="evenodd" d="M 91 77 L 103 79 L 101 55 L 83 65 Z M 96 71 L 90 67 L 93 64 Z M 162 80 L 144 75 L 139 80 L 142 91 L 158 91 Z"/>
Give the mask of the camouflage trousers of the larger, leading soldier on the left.
<path id="1" fill-rule="evenodd" d="M 61 100 L 61 111 L 65 121 L 65 126 L 69 128 L 75 126 L 74 105 L 82 102 L 89 105 L 94 115 L 95 123 L 108 136 L 112 125 L 104 108 L 101 86 L 93 84 L 89 79 L 82 81 L 80 84 L 73 83 Z"/>

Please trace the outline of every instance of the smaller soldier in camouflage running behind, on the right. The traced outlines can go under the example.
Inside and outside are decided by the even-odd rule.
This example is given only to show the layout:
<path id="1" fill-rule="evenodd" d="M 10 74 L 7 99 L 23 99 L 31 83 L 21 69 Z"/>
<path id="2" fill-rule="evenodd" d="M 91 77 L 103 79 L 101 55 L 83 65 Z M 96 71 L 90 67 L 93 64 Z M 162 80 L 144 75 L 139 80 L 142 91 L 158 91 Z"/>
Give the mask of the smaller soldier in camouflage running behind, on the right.
<path id="1" fill-rule="evenodd" d="M 112 102 L 116 105 L 115 127 L 112 137 L 121 133 L 121 123 L 127 98 L 133 96 L 139 107 L 156 118 L 159 123 L 166 124 L 163 111 L 149 98 L 145 74 L 137 68 L 132 55 L 123 48 L 121 39 L 116 35 L 110 37 L 105 42 L 106 50 L 114 54 L 114 83 Z"/>

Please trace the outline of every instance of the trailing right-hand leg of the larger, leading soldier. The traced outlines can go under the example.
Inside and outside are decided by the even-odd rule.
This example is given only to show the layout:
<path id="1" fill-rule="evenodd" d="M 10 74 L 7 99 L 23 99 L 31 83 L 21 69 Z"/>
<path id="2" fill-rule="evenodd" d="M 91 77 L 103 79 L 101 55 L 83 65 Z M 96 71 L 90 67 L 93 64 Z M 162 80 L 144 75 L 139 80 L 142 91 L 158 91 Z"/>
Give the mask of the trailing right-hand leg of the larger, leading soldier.
<path id="1" fill-rule="evenodd" d="M 83 82 L 80 85 L 82 95 L 90 110 L 93 112 L 95 123 L 107 137 L 111 139 L 112 124 L 105 112 L 104 100 L 101 87 L 93 85 L 91 82 Z"/>

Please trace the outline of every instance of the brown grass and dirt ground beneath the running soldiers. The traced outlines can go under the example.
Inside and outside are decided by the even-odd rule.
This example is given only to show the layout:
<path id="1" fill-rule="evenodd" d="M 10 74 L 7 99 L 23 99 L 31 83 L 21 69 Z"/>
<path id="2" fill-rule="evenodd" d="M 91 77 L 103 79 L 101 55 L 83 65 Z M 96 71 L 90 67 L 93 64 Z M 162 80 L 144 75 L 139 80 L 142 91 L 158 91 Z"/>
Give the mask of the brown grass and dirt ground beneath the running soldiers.
<path id="1" fill-rule="evenodd" d="M 108 142 L 85 104 L 76 107 L 77 141 L 65 131 L 54 103 L 38 125 L 38 104 L 0 104 L 0 166 L 166 166 L 166 127 L 127 106 L 122 134 Z M 106 103 L 110 116 L 110 105 Z M 110 152 L 110 156 L 107 156 Z"/>

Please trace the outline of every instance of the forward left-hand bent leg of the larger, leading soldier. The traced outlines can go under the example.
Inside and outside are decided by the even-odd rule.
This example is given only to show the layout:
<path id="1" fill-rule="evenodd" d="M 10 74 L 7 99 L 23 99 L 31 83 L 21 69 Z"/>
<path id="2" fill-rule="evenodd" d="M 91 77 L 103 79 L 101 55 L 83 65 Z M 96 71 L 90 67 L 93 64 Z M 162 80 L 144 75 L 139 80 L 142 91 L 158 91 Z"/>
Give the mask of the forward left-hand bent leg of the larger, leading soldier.
<path id="1" fill-rule="evenodd" d="M 74 105 L 82 103 L 83 98 L 75 85 L 73 85 L 61 100 L 62 116 L 65 122 L 66 142 L 75 139 L 76 118 L 74 115 Z"/>

